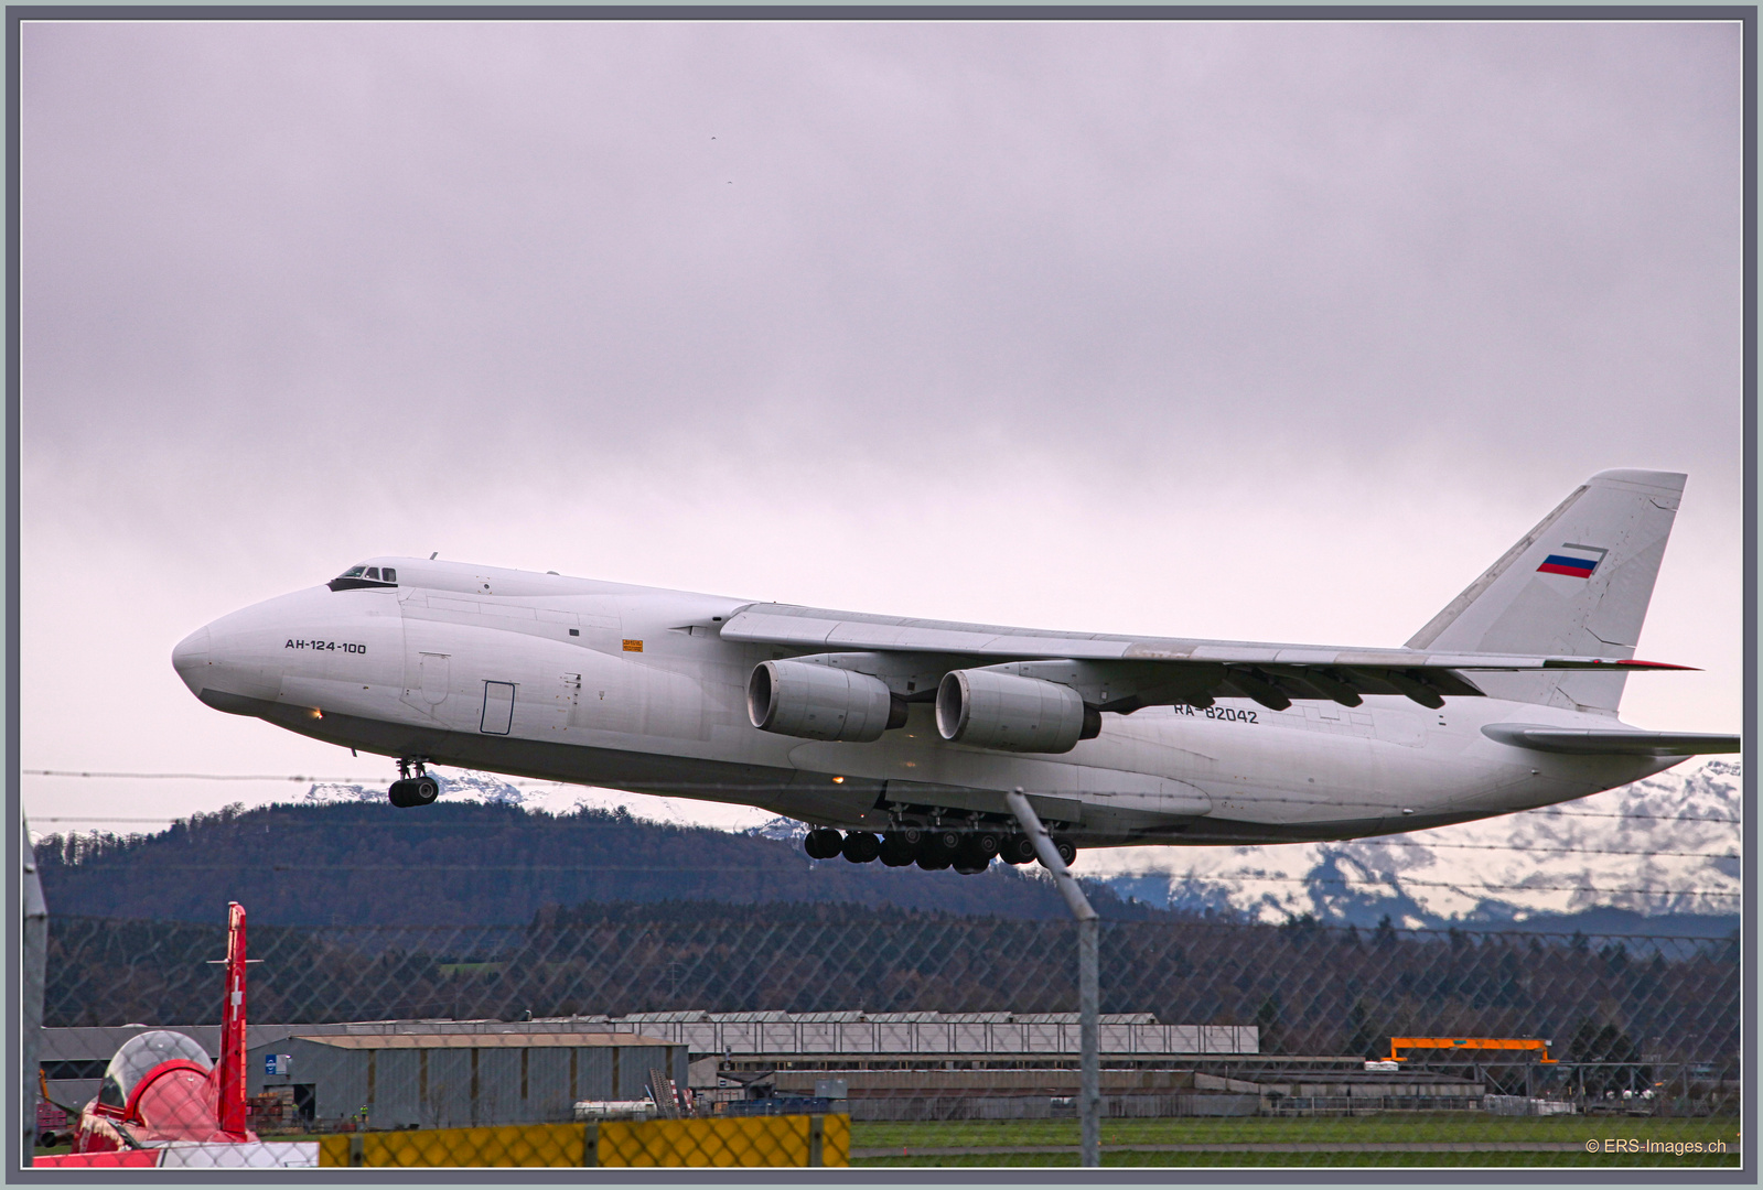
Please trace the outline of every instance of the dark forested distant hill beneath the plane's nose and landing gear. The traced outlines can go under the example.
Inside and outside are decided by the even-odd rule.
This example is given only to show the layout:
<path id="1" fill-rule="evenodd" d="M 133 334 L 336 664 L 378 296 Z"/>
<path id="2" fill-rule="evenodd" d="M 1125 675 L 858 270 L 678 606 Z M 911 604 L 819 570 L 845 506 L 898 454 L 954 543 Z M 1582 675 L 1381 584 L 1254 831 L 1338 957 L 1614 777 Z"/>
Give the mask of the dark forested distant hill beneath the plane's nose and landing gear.
<path id="1" fill-rule="evenodd" d="M 487 926 L 543 906 L 658 901 L 896 904 L 1065 919 L 1038 869 L 978 876 L 843 859 L 758 836 L 621 813 L 513 806 L 268 806 L 196 814 L 152 836 L 49 836 L 37 844 L 49 913 L 212 922 L 242 903 L 270 926 Z M 1088 881 L 1086 881 L 1088 883 Z M 1100 885 L 1104 917 L 1160 917 Z"/>

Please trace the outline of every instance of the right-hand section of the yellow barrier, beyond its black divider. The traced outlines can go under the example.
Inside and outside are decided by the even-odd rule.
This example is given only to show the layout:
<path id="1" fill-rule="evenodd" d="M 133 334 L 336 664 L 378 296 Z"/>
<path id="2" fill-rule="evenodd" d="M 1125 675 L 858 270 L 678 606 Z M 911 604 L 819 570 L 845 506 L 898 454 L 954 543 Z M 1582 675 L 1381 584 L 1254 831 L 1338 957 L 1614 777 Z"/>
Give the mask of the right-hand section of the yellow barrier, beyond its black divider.
<path id="1" fill-rule="evenodd" d="M 850 1116 L 606 1121 L 598 1165 L 850 1165 Z"/>

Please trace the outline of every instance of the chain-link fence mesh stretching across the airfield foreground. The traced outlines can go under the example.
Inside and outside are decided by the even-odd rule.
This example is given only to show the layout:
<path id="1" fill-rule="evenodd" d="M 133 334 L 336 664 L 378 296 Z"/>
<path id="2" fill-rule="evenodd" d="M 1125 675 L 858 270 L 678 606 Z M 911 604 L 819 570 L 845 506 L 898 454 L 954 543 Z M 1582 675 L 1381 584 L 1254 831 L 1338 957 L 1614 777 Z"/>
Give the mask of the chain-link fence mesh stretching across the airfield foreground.
<path id="1" fill-rule="evenodd" d="M 139 1026 L 213 1052 L 224 947 L 55 919 L 51 1098 L 95 1095 Z M 254 1132 L 321 1164 L 612 1164 L 614 1125 L 659 1164 L 1077 1160 L 1068 922 L 633 904 L 256 924 L 250 956 Z M 1737 938 L 1104 922 L 1100 987 L 1104 1164 L 1740 1160 Z M 465 1137 L 539 1125 L 573 1132 Z M 395 1132 L 435 1139 L 367 1144 Z"/>

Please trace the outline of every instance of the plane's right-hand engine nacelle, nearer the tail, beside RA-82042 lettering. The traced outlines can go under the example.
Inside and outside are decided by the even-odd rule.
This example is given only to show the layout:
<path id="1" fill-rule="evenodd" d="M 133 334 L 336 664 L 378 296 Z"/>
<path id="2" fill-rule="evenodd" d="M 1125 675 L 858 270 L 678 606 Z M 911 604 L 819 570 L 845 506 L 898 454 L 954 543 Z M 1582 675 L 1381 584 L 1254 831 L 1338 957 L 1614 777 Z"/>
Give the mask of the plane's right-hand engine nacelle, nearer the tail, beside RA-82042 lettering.
<path id="1" fill-rule="evenodd" d="M 936 688 L 936 730 L 950 742 L 1005 753 L 1068 753 L 1102 716 L 1070 686 L 996 670 L 950 670 Z"/>

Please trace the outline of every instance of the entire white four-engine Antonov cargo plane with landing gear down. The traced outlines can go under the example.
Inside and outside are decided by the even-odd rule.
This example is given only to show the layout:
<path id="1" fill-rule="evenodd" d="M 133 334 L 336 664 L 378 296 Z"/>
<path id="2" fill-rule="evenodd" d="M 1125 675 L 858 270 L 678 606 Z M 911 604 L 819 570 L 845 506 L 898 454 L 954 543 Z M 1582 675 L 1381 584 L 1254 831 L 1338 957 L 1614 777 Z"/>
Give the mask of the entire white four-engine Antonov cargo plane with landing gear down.
<path id="1" fill-rule="evenodd" d="M 1606 471 L 1402 649 L 899 619 L 376 557 L 197 629 L 205 703 L 397 758 L 758 806 L 816 859 L 1352 839 L 1738 751 L 1617 718 L 1684 476 Z M 1668 677 L 1654 681 L 1670 681 Z"/>

